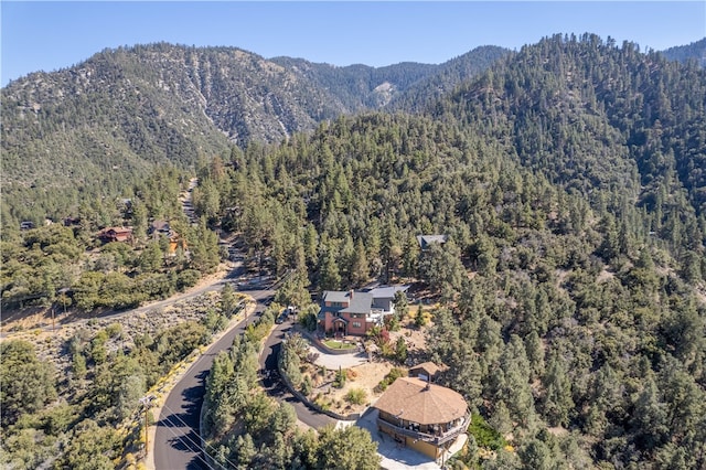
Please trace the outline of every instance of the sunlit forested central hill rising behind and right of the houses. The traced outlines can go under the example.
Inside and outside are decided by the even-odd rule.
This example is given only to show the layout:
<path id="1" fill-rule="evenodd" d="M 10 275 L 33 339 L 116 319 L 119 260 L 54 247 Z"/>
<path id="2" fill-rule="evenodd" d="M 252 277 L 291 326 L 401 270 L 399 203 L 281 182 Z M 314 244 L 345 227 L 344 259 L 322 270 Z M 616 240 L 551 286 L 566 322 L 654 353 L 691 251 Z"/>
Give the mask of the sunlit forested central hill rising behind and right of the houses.
<path id="1" fill-rule="evenodd" d="M 515 448 L 466 464 L 699 468 L 703 277 L 687 284 L 659 238 L 633 237 L 612 209 L 620 192 L 595 189 L 607 204 L 591 209 L 514 160 L 461 126 L 371 115 L 200 178 L 229 189 L 223 207 L 237 211 L 224 223 L 296 269 L 285 302 L 310 282 L 373 278 L 438 293 L 429 357 Z M 450 242 L 420 257 L 421 233 Z"/>

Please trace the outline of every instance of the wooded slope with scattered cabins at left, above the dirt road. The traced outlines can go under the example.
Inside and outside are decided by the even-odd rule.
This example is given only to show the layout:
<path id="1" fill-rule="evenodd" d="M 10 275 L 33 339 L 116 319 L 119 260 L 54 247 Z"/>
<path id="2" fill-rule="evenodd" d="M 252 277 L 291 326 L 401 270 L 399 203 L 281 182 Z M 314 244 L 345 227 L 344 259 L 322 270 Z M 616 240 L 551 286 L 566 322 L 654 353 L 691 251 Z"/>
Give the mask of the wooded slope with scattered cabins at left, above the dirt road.
<path id="1" fill-rule="evenodd" d="M 137 307 L 193 286 L 221 261 L 217 235 L 206 221 L 192 224 L 180 194 L 188 180 L 161 167 L 124 188 L 129 199 L 82 201 L 75 217 L 32 229 L 6 229 L 0 248 L 4 319 L 17 309 L 84 312 Z M 170 233 L 151 229 L 169 221 Z M 100 228 L 131 228 L 124 241 L 100 238 Z"/>

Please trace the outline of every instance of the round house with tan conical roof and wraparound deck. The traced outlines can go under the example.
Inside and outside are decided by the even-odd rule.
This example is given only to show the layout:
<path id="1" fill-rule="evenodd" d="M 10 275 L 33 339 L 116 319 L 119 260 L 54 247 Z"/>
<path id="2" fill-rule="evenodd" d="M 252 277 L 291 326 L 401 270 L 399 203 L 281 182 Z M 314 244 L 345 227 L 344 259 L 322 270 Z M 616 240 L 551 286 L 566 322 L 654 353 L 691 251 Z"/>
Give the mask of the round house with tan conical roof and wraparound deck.
<path id="1" fill-rule="evenodd" d="M 471 416 L 459 393 L 417 377 L 397 378 L 373 408 L 379 431 L 435 459 L 466 431 Z"/>

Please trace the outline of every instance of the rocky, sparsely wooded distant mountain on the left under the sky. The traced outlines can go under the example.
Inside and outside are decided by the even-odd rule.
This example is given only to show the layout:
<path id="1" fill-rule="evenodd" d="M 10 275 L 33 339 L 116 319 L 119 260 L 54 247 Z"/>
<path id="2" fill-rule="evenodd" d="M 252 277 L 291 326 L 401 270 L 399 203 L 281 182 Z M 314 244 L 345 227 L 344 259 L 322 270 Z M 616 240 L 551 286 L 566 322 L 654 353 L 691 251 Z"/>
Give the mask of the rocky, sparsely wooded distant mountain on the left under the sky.
<path id="1" fill-rule="evenodd" d="M 167 43 L 106 50 L 2 89 L 2 180 L 64 186 L 159 162 L 189 165 L 229 145 L 275 142 L 341 114 L 378 109 L 448 68 L 335 67 Z"/>

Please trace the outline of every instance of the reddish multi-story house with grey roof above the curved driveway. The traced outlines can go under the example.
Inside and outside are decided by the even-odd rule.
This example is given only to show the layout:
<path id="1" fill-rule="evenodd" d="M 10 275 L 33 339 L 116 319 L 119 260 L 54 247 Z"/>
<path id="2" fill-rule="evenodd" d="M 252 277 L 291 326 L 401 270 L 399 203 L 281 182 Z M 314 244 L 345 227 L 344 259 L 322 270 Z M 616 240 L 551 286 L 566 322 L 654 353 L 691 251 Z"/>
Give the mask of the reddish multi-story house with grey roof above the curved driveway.
<path id="1" fill-rule="evenodd" d="M 382 327 L 385 317 L 395 313 L 395 293 L 409 286 L 385 286 L 370 290 L 325 290 L 321 296 L 319 328 L 335 335 L 362 337 L 373 327 Z"/>

